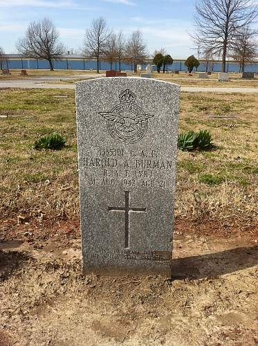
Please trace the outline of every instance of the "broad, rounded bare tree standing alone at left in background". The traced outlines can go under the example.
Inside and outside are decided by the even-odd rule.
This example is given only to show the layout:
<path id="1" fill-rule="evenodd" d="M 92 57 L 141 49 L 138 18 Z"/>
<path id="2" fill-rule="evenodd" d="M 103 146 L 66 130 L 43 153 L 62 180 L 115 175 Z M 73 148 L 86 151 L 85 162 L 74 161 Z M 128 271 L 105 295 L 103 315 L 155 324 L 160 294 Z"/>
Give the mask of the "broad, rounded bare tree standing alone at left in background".
<path id="1" fill-rule="evenodd" d="M 65 51 L 59 42 L 59 33 L 49 18 L 30 22 L 25 37 L 19 39 L 16 46 L 21 55 L 48 60 L 51 71 L 54 71 L 53 60 L 58 60 Z"/>

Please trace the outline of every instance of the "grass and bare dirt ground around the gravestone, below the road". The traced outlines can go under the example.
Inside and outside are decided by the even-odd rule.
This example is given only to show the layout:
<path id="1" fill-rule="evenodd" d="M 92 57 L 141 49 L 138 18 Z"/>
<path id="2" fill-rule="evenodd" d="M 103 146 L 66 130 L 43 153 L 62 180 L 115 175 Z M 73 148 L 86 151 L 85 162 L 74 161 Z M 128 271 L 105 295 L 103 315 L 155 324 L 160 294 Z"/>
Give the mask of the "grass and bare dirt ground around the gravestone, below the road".
<path id="1" fill-rule="evenodd" d="M 256 345 L 258 95 L 182 93 L 174 277 L 82 275 L 73 90 L 0 94 L 0 345 Z M 58 131 L 60 151 L 36 151 Z"/>

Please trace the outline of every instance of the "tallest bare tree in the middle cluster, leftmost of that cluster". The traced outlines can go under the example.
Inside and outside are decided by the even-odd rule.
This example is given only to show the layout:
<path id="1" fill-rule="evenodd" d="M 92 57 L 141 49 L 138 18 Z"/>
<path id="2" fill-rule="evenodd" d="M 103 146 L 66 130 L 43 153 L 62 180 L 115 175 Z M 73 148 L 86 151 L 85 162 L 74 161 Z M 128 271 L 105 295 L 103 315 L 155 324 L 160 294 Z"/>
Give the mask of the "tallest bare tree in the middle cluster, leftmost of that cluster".
<path id="1" fill-rule="evenodd" d="M 86 57 L 97 59 L 97 73 L 100 73 L 100 57 L 105 53 L 111 31 L 103 17 L 93 19 L 91 28 L 86 30 L 83 52 Z"/>

